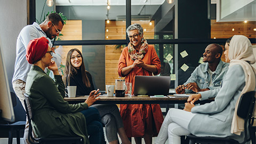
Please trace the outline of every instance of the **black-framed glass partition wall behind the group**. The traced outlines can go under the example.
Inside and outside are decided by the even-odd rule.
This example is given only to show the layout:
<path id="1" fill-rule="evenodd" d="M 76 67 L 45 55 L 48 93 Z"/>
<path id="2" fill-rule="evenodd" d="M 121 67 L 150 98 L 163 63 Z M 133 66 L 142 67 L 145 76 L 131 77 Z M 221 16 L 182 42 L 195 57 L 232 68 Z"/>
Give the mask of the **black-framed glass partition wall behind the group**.
<path id="1" fill-rule="evenodd" d="M 105 90 L 106 84 L 114 84 L 118 78 L 118 60 L 129 43 L 126 28 L 140 23 L 144 38 L 154 45 L 162 63 L 161 74 L 157 76 L 171 76 L 170 88 L 174 89 L 186 82 L 193 70 L 202 63 L 201 57 L 208 44 L 225 45 L 226 39 L 235 34 L 245 35 L 255 44 L 256 20 L 250 17 L 255 0 L 240 6 L 239 10 L 225 12 L 225 17 L 223 14 L 219 17 L 221 12 L 218 10 L 228 9 L 228 5 L 221 0 L 217 2 L 92 0 L 77 3 L 55 0 L 52 9 L 62 12 L 68 21 L 62 29 L 63 36 L 54 45 L 63 65 L 71 48 L 81 50 L 86 70 L 94 78 L 94 85 Z M 43 7 L 43 4 L 40 6 Z M 234 13 L 250 7 L 252 11 L 243 11 L 244 19 L 238 20 Z M 42 15 L 41 12 L 42 8 L 36 9 L 36 15 Z"/>

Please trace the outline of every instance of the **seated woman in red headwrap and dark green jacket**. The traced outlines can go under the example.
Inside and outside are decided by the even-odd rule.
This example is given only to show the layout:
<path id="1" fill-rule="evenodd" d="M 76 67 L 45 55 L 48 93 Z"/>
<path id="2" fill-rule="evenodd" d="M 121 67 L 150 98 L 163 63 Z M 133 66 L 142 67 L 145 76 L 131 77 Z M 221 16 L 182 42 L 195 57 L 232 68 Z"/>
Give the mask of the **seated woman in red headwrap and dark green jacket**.
<path id="1" fill-rule="evenodd" d="M 99 111 L 89 108 L 99 95 L 92 91 L 82 103 L 69 105 L 63 100 L 65 86 L 58 67 L 52 58 L 52 51 L 45 37 L 29 42 L 26 58 L 31 66 L 25 91 L 31 99 L 35 113 L 33 128 L 38 138 L 42 137 L 83 137 L 84 143 L 106 143 Z M 55 82 L 44 72 L 49 68 L 54 73 Z M 86 129 L 87 127 L 87 129 Z M 88 132 L 88 133 L 87 133 Z M 90 138 L 88 139 L 88 135 Z"/>

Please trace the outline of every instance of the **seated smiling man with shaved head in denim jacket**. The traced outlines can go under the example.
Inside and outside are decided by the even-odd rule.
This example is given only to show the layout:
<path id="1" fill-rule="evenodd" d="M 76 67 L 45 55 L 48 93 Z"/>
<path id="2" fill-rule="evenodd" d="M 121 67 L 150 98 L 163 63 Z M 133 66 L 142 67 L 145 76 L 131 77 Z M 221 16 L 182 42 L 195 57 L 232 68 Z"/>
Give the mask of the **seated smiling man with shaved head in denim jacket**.
<path id="1" fill-rule="evenodd" d="M 215 89 L 221 85 L 229 63 L 221 61 L 222 47 L 210 44 L 203 53 L 203 62 L 196 67 L 187 82 L 176 87 L 176 93 L 194 93 Z"/>

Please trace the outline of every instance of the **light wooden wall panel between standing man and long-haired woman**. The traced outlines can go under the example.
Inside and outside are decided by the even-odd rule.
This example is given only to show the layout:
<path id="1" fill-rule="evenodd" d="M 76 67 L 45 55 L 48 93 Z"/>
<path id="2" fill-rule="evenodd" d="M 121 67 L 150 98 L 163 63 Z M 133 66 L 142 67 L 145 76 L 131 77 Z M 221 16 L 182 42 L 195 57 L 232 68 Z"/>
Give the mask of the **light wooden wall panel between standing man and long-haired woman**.
<path id="1" fill-rule="evenodd" d="M 82 20 L 67 20 L 59 36 L 62 41 L 82 40 Z M 62 65 L 66 65 L 67 53 L 70 49 L 77 48 L 82 52 L 82 45 L 56 46 L 56 52 L 61 55 Z"/>

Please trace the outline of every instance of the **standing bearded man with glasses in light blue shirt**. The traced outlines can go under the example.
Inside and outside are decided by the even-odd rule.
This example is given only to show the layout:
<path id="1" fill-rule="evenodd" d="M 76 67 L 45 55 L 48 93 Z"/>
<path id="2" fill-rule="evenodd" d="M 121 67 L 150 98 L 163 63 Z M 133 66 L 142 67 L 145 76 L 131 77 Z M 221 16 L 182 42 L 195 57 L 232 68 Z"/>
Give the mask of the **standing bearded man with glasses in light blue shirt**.
<path id="1" fill-rule="evenodd" d="M 17 38 L 16 45 L 16 60 L 14 66 L 14 74 L 12 78 L 13 90 L 16 93 L 17 97 L 20 99 L 23 108 L 24 105 L 24 93 L 25 85 L 28 72 L 31 65 L 26 60 L 26 49 L 29 41 L 39 37 L 46 37 L 49 41 L 49 46 L 52 47 L 50 39 L 53 39 L 56 36 L 59 36 L 63 28 L 64 22 L 58 13 L 49 14 L 45 21 L 38 25 L 36 22 L 33 25 L 25 26 Z M 50 54 L 53 56 L 53 59 L 58 57 L 57 54 L 52 53 L 53 48 Z M 28 120 L 26 120 L 26 128 L 24 132 L 25 143 L 28 142 Z"/>

